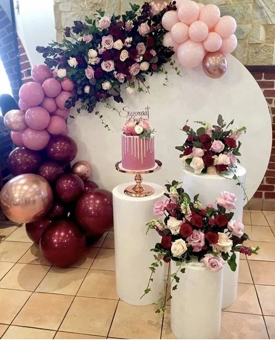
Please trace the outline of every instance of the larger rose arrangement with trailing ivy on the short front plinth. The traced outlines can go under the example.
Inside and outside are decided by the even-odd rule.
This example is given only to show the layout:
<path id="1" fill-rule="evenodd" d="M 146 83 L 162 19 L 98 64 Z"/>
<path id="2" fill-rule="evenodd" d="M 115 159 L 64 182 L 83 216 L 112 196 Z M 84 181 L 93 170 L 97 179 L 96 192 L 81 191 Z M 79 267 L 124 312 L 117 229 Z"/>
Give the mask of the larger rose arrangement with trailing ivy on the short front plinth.
<path id="1" fill-rule="evenodd" d="M 184 273 L 184 266 L 191 261 L 202 262 L 210 271 L 219 271 L 223 265 L 229 264 L 232 271 L 236 270 L 236 252 L 245 255 L 257 254 L 259 247 L 245 247 L 241 244 L 249 239 L 243 232 L 241 221 L 233 219 L 233 209 L 236 208 L 236 196 L 230 192 L 221 193 L 216 199 L 216 207 L 210 203 L 203 207 L 198 200 L 199 195 L 191 201 L 189 195 L 180 187 L 180 182 L 173 181 L 165 187 L 167 200 L 157 201 L 154 215 L 165 215 L 164 221 L 152 220 L 148 222 L 148 230 L 154 229 L 161 241 L 151 250 L 156 253 L 155 261 L 151 264 L 151 276 L 144 295 L 151 291 L 150 283 L 153 274 L 162 261 L 176 261 L 177 272 L 171 274 L 171 283 L 178 283 L 178 271 Z M 168 280 L 164 280 L 169 283 Z M 177 284 L 172 290 L 177 289 Z M 143 296 L 144 296 L 143 295 Z M 143 297 L 142 296 L 142 297 Z M 171 296 L 169 300 L 171 300 Z M 157 312 L 165 310 L 165 293 L 161 293 Z"/>

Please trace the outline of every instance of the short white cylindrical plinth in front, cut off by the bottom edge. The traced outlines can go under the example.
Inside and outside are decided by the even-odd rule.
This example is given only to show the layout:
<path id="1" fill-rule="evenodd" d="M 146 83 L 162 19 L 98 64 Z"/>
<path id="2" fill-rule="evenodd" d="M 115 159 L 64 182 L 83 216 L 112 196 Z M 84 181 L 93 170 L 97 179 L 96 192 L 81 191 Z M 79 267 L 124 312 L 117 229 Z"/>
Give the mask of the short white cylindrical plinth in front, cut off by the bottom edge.
<path id="1" fill-rule="evenodd" d="M 171 261 L 171 273 L 177 271 Z M 222 271 L 189 263 L 177 290 L 171 289 L 171 329 L 178 339 L 218 339 L 221 323 Z M 174 284 L 174 283 L 173 283 Z M 174 286 L 174 285 L 172 285 Z"/>

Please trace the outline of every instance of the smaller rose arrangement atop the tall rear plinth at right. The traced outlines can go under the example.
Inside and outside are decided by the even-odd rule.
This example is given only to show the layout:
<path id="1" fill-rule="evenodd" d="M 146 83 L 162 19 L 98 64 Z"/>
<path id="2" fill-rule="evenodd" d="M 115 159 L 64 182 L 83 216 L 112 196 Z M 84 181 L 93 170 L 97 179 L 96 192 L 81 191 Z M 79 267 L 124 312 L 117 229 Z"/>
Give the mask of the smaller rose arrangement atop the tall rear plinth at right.
<path id="1" fill-rule="evenodd" d="M 221 115 L 218 116 L 217 125 L 211 126 L 208 122 L 195 121 L 202 127 L 196 131 L 187 124 L 182 130 L 187 134 L 187 139 L 182 146 L 176 149 L 183 152 L 181 160 L 194 169 L 194 173 L 217 174 L 235 168 L 240 156 L 241 142 L 238 141 L 246 127 L 240 126 L 230 129 L 234 123 L 227 124 Z M 187 123 L 187 122 L 186 122 Z"/>

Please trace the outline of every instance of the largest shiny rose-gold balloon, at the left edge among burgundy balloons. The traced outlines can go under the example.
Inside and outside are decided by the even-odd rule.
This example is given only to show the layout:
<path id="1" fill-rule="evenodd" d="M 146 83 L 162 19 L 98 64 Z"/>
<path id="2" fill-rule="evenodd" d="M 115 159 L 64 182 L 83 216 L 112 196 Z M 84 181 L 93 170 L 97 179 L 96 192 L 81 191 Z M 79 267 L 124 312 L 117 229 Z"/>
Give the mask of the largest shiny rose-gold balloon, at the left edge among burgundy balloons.
<path id="1" fill-rule="evenodd" d="M 36 174 L 22 174 L 7 182 L 0 193 L 1 208 L 11 221 L 37 221 L 50 210 L 53 191 L 49 183 Z"/>

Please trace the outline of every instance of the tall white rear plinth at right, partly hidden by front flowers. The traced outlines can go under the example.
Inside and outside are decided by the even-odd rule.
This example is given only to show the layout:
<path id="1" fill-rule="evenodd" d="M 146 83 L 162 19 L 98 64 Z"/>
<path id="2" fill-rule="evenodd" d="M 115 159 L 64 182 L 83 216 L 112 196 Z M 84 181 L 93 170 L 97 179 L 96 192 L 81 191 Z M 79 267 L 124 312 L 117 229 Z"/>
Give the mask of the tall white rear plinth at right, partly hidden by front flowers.
<path id="1" fill-rule="evenodd" d="M 233 179 L 233 174 L 221 177 L 220 175 L 208 175 L 200 174 L 195 175 L 190 171 L 189 167 L 182 169 L 182 188 L 193 197 L 199 193 L 198 200 L 202 202 L 204 206 L 209 203 L 215 204 L 216 198 L 220 195 L 220 192 L 228 191 L 236 195 L 236 210 L 233 210 L 236 221 L 242 221 L 243 217 L 243 205 L 244 205 L 244 191 L 245 188 L 245 176 L 246 170 L 244 167 L 238 164 L 235 174 L 242 186 L 237 185 L 237 180 Z M 223 299 L 222 308 L 227 308 L 236 301 L 237 297 L 237 284 L 239 273 L 239 255 L 236 258 L 237 269 L 235 272 L 231 271 L 228 264 L 224 265 L 223 269 Z"/>

